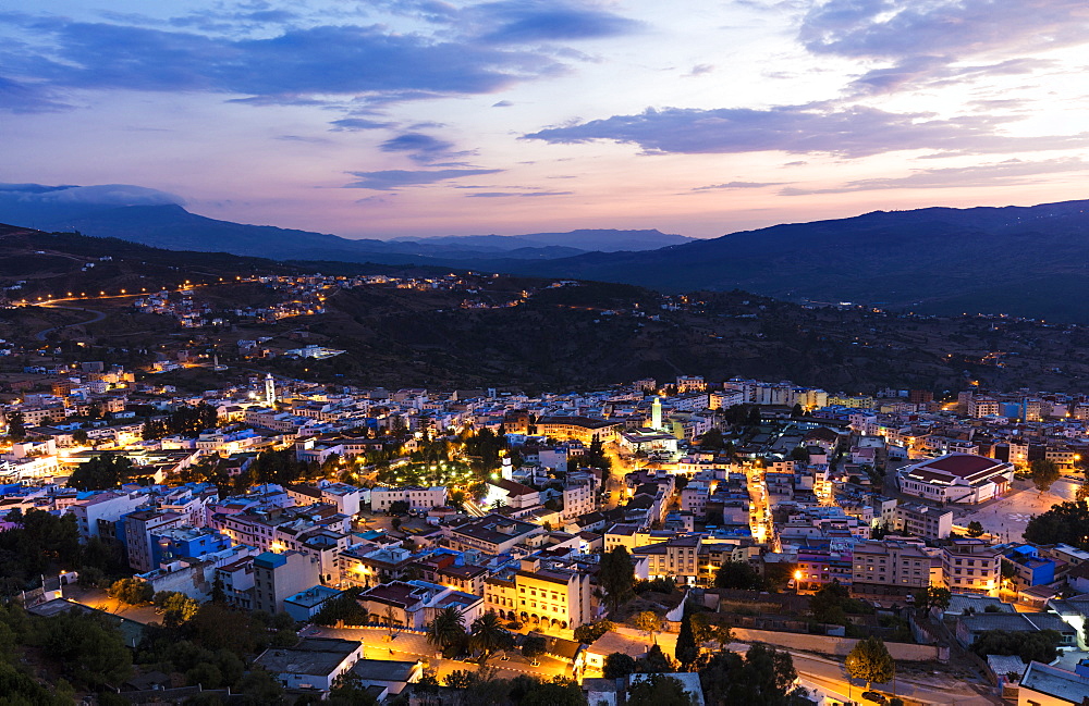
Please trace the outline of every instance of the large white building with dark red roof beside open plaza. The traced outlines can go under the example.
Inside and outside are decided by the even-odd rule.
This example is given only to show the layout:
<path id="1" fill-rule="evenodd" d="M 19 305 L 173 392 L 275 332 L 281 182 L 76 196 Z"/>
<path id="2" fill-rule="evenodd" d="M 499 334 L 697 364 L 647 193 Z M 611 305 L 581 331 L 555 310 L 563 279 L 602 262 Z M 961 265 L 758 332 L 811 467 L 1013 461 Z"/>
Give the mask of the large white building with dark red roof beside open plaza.
<path id="1" fill-rule="evenodd" d="M 900 490 L 934 503 L 976 505 L 1010 488 L 1013 463 L 975 454 L 946 454 L 900 471 Z"/>

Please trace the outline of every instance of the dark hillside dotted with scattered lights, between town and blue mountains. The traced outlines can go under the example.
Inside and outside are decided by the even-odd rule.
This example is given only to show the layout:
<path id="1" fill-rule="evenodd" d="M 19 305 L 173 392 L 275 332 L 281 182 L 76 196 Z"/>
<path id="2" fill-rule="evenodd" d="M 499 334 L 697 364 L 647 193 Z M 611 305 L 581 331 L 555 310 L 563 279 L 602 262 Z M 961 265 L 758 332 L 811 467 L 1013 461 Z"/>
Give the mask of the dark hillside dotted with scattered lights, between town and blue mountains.
<path id="1" fill-rule="evenodd" d="M 73 361 L 101 359 L 140 369 L 156 352 L 174 359 L 186 349 L 215 351 L 234 371 L 228 375 L 272 370 L 362 386 L 542 391 L 702 374 L 712 381 L 788 379 L 830 391 L 955 391 L 975 379 L 1000 389 L 1089 392 L 1089 329 L 1081 326 L 807 308 L 744 292 L 670 297 L 623 284 L 554 286 L 552 280 L 528 276 L 451 278 L 449 269 L 273 262 L 11 226 L 0 226 L 0 286 L 25 283 L 8 293 L 15 301 L 75 295 L 59 302 L 70 309 L 0 309 L 0 338 L 15 349 L 0 358 L 0 370 L 9 373 L 54 361 L 57 351 Z M 333 285 L 323 313 L 276 321 L 231 313 L 296 296 L 255 275 L 295 281 L 316 272 L 393 278 Z M 454 284 L 400 286 L 419 277 Z M 134 293 L 160 287 L 176 293 L 185 281 L 196 304 L 215 312 L 209 318 L 225 323 L 183 329 L 169 315 L 132 308 Z M 96 312 L 103 318 L 88 321 Z M 326 360 L 243 359 L 237 342 L 257 339 L 273 351 L 316 344 L 346 352 Z M 52 351 L 46 357 L 42 340 Z M 210 376 L 192 368 L 149 380 L 199 392 L 213 382 Z"/>

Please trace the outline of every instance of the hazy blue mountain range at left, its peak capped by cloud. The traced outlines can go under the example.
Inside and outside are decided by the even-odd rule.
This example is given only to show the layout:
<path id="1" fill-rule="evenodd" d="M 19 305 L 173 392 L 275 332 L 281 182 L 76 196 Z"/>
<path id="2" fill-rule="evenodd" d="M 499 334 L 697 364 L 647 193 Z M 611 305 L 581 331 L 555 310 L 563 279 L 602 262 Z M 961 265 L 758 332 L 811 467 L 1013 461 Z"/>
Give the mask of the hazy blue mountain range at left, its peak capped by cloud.
<path id="1" fill-rule="evenodd" d="M 323 233 L 245 225 L 197 215 L 182 199 L 130 185 L 0 184 L 0 221 L 44 231 L 78 231 L 172 250 L 276 259 L 321 259 L 482 269 L 492 259 L 550 260 L 595 249 L 643 250 L 688 241 L 658 231 L 573 231 L 519 236 L 350 239 Z"/>

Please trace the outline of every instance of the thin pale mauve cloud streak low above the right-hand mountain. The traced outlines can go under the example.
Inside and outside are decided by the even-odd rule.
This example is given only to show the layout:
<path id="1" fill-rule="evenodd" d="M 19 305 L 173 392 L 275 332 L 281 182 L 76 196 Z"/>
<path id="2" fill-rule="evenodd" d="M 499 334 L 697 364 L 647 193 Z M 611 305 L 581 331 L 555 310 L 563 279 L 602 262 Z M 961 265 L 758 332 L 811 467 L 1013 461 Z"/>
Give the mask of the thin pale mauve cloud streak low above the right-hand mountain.
<path id="1" fill-rule="evenodd" d="M 1032 177 L 1041 174 L 1082 171 L 1089 171 L 1089 162 L 1079 158 L 1056 158 L 1036 162 L 1011 159 L 971 166 L 915 170 L 908 176 L 856 179 L 833 188 L 806 189 L 787 187 L 780 190 L 780 195 L 808 196 L 812 194 L 845 194 L 878 189 L 1012 186 L 1038 183 L 1039 179 Z"/>

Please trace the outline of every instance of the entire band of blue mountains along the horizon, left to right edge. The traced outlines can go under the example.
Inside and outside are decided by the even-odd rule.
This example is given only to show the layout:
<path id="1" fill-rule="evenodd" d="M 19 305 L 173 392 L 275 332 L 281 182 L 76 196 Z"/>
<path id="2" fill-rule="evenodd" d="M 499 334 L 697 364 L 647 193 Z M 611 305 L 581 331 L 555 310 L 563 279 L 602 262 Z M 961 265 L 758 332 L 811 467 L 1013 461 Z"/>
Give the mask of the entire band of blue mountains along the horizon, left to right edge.
<path id="1" fill-rule="evenodd" d="M 353 240 L 191 213 L 130 186 L 0 185 L 0 221 L 168 249 L 744 289 L 803 302 L 1089 322 L 1089 201 L 925 208 L 694 239 L 658 231 Z"/>

